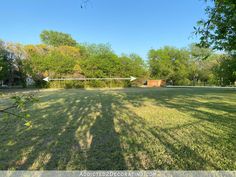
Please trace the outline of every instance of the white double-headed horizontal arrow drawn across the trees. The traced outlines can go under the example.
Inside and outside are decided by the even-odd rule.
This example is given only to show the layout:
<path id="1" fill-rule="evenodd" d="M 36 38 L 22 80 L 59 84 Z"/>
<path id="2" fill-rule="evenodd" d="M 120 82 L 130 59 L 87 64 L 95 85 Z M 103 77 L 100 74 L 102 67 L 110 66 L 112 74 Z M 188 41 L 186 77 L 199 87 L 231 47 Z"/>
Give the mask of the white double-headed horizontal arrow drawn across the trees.
<path id="1" fill-rule="evenodd" d="M 87 81 L 87 80 L 130 80 L 131 82 L 136 80 L 136 77 L 130 76 L 130 77 L 126 77 L 126 78 L 121 78 L 121 77 L 115 77 L 115 78 L 49 78 L 49 77 L 45 77 L 43 80 L 46 82 L 49 81 Z"/>

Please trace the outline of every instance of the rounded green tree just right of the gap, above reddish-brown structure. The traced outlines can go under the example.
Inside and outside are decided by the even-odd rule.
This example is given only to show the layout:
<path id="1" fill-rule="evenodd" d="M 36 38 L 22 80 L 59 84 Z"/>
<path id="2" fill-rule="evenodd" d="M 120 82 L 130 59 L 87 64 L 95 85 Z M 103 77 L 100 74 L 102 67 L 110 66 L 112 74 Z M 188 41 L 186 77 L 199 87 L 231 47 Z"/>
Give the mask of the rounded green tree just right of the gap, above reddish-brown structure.
<path id="1" fill-rule="evenodd" d="M 148 54 L 151 77 L 172 80 L 174 84 L 188 84 L 189 53 L 184 49 L 164 47 Z"/>

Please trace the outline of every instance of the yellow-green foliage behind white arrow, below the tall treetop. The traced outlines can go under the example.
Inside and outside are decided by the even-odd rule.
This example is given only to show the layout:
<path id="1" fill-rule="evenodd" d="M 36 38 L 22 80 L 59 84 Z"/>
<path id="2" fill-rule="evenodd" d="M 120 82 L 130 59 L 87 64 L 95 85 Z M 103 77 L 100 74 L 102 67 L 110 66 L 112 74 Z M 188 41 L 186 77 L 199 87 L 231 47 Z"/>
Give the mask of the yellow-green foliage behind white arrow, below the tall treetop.
<path id="1" fill-rule="evenodd" d="M 109 45 L 78 45 L 49 47 L 46 45 L 25 46 L 28 53 L 24 60 L 25 71 L 40 87 L 83 88 L 83 87 L 125 87 L 126 81 L 51 81 L 44 77 L 139 77 L 147 78 L 144 61 L 136 54 L 117 56 Z M 137 81 L 138 83 L 139 81 Z"/>

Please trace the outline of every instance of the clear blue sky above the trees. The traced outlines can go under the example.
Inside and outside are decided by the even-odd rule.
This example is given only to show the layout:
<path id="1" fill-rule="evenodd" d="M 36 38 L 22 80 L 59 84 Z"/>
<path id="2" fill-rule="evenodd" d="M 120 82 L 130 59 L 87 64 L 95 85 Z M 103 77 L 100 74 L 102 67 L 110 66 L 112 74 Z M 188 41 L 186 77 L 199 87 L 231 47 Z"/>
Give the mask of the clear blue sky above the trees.
<path id="1" fill-rule="evenodd" d="M 150 49 L 196 42 L 193 26 L 206 7 L 203 0 L 89 0 L 81 8 L 82 1 L 2 0 L 0 39 L 38 44 L 42 30 L 56 30 L 146 59 Z"/>

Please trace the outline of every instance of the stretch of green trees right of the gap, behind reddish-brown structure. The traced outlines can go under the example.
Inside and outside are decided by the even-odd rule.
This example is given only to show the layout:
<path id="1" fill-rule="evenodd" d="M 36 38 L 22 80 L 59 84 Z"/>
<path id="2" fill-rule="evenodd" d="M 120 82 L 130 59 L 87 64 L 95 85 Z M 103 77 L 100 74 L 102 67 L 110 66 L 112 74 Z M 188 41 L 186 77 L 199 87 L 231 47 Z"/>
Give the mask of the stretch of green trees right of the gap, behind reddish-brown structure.
<path id="1" fill-rule="evenodd" d="M 235 57 L 214 54 L 195 44 L 186 49 L 164 47 L 149 51 L 152 78 L 174 85 L 232 85 L 236 78 Z"/>

